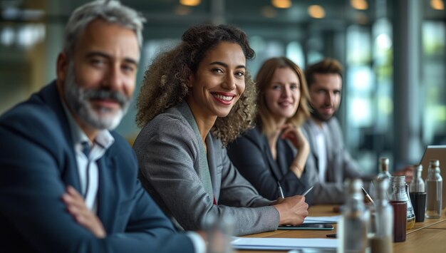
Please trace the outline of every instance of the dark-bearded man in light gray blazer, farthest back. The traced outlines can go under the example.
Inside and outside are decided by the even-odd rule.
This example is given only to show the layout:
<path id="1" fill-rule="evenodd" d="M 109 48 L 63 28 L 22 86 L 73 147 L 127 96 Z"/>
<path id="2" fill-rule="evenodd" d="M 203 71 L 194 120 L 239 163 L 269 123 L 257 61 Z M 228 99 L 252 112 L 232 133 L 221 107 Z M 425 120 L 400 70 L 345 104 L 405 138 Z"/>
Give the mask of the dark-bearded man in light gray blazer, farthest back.
<path id="1" fill-rule="evenodd" d="M 344 201 L 343 181 L 361 177 L 358 164 L 344 147 L 341 126 L 333 117 L 341 103 L 342 66 L 335 59 L 308 66 L 305 71 L 311 98 L 311 118 L 302 126 L 310 143 L 305 170 L 316 174 L 313 204 L 341 204 Z"/>

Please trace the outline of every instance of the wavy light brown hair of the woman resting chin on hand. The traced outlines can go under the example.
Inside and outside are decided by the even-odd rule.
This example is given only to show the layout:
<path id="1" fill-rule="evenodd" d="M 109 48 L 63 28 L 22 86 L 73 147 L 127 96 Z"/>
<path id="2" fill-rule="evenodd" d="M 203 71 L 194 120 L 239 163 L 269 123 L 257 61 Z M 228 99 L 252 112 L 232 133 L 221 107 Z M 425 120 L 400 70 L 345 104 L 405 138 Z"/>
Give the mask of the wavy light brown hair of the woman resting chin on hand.
<path id="1" fill-rule="evenodd" d="M 256 76 L 256 87 L 259 91 L 257 95 L 257 105 L 259 107 L 257 122 L 260 123 L 261 131 L 265 134 L 271 133 L 277 128 L 273 115 L 271 115 L 271 111 L 266 105 L 265 100 L 265 91 L 271 86 L 271 81 L 277 68 L 291 68 L 296 73 L 300 83 L 301 98 L 299 99 L 298 108 L 296 113 L 286 120 L 286 123 L 300 126 L 310 117 L 310 109 L 308 106 L 310 95 L 308 93 L 308 87 L 306 86 L 304 71 L 289 58 L 269 58 L 262 64 Z"/>

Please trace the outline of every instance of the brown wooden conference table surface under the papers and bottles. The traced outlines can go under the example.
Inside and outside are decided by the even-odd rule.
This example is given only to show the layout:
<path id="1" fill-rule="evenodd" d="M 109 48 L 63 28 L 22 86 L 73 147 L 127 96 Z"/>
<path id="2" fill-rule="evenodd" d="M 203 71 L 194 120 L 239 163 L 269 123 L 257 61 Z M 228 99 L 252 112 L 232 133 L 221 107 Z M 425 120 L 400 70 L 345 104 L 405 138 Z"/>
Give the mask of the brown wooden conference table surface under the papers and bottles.
<path id="1" fill-rule="evenodd" d="M 333 205 L 315 205 L 308 209 L 310 216 L 333 216 L 340 215 L 333 212 Z M 393 252 L 446 252 L 446 215 L 442 210 L 440 219 L 425 219 L 424 222 L 415 222 L 412 229 L 407 230 L 405 242 L 394 242 Z M 336 224 L 333 224 L 334 230 L 276 230 L 259 234 L 249 234 L 244 237 L 269 237 L 269 238 L 326 238 L 326 234 L 336 233 Z M 279 251 L 256 251 L 256 250 L 237 250 L 239 253 L 250 252 L 279 252 Z M 282 251 L 283 252 L 283 251 Z"/>

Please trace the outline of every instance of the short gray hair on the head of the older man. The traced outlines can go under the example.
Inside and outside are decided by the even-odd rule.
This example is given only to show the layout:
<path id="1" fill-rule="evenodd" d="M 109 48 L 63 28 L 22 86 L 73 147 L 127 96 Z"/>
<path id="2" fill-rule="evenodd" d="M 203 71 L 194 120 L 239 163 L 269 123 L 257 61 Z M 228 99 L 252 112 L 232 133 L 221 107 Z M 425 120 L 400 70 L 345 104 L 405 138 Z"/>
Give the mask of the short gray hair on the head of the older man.
<path id="1" fill-rule="evenodd" d="M 134 9 L 123 6 L 115 0 L 92 1 L 78 7 L 71 14 L 63 36 L 63 51 L 71 55 L 74 51 L 79 36 L 95 19 L 103 19 L 110 23 L 115 23 L 135 32 L 139 46 L 142 46 L 142 23 L 145 18 Z"/>

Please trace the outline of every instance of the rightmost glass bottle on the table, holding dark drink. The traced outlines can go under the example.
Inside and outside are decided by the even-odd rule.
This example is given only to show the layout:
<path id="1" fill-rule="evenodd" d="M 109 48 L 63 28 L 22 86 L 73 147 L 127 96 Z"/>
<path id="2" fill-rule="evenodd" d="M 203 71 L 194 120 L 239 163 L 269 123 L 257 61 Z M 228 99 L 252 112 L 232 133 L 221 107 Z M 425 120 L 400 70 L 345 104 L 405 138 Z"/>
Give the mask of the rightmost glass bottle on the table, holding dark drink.
<path id="1" fill-rule="evenodd" d="M 426 218 L 440 218 L 442 210 L 440 161 L 430 160 L 426 178 Z"/>

